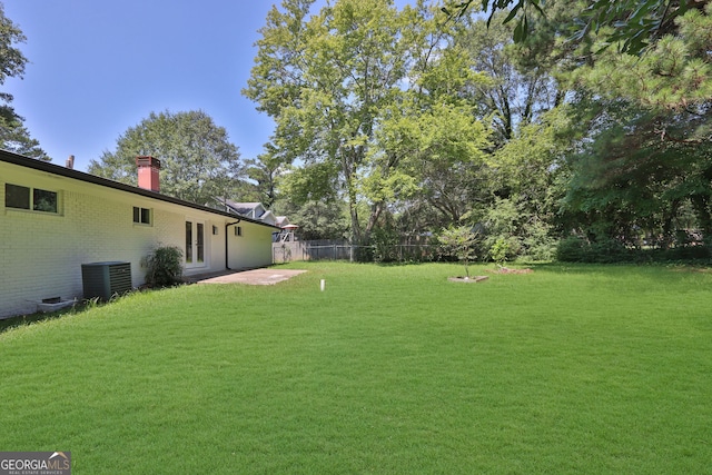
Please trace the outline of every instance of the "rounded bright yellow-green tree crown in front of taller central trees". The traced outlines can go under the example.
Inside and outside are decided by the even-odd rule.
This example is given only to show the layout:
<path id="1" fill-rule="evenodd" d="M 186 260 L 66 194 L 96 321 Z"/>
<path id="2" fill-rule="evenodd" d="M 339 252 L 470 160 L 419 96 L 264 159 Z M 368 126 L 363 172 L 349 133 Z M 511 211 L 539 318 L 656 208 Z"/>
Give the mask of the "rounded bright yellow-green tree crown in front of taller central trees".
<path id="1" fill-rule="evenodd" d="M 433 105 L 386 121 L 370 157 L 384 171 L 364 180 L 364 194 L 396 214 L 419 208 L 422 228 L 457 224 L 485 188 L 488 136 L 466 105 Z"/>

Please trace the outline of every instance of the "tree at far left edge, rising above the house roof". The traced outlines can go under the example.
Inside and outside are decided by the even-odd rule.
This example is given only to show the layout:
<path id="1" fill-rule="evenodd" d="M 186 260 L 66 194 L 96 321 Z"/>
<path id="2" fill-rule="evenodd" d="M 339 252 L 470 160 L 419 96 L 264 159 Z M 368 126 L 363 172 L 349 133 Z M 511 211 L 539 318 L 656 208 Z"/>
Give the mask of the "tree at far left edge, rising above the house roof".
<path id="1" fill-rule="evenodd" d="M 22 30 L 4 16 L 4 7 L 0 3 L 0 86 L 8 78 L 22 78 L 27 58 L 16 44 L 27 38 Z M 24 119 L 12 107 L 13 97 L 0 92 L 0 148 L 40 160 L 50 160 L 39 141 L 30 136 L 24 127 Z"/>

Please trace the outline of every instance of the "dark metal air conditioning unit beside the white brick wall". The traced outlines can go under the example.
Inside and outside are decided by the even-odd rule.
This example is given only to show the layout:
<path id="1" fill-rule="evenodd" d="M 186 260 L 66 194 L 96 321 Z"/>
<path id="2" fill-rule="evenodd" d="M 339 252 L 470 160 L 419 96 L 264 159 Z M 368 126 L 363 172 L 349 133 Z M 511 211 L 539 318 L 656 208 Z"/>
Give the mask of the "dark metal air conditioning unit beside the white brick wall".
<path id="1" fill-rule="evenodd" d="M 131 263 L 91 263 L 81 265 L 85 298 L 110 300 L 131 290 Z"/>

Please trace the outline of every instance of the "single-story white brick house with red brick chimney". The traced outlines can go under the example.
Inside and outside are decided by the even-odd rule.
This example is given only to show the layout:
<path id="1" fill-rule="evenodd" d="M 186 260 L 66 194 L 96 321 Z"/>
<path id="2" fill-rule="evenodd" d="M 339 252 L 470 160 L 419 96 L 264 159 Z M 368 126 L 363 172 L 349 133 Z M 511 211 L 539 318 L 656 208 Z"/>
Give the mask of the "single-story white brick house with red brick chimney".
<path id="1" fill-rule="evenodd" d="M 0 317 L 42 299 L 82 298 L 82 265 L 130 263 L 158 246 L 184 250 L 185 275 L 271 264 L 267 222 L 159 192 L 160 161 L 137 158 L 139 187 L 0 150 Z"/>

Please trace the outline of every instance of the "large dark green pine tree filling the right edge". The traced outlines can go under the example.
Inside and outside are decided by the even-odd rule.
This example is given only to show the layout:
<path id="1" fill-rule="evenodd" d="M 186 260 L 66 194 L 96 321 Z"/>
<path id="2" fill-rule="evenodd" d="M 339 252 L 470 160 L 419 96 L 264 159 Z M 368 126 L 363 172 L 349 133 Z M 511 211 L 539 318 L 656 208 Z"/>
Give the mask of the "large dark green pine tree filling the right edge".
<path id="1" fill-rule="evenodd" d="M 563 4 L 541 3 L 543 16 L 530 17 L 515 46 L 521 66 L 546 65 L 566 88 L 572 113 L 562 130 L 576 154 L 565 164 L 561 225 L 626 244 L 647 234 L 663 246 L 690 216 L 712 229 L 709 2 L 599 0 L 562 13 Z M 523 17 L 520 9 L 507 19 Z"/>

